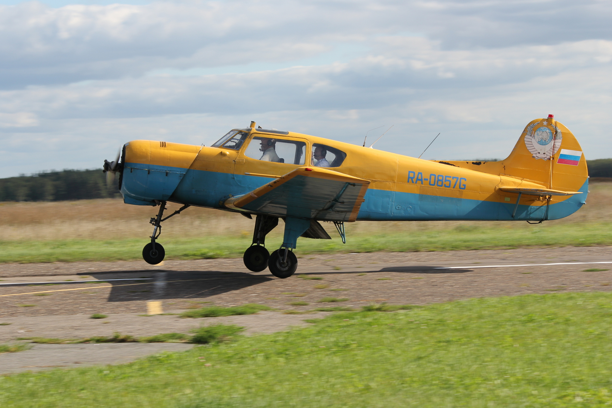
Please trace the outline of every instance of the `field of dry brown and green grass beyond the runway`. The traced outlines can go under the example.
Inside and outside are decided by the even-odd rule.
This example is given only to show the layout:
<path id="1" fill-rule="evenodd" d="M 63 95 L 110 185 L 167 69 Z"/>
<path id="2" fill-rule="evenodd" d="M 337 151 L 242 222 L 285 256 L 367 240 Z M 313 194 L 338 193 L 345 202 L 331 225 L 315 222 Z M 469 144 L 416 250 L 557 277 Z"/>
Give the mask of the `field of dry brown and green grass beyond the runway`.
<path id="1" fill-rule="evenodd" d="M 303 253 L 334 251 L 427 251 L 517 247 L 521 245 L 610 245 L 612 182 L 593 182 L 586 206 L 563 220 L 541 225 L 507 221 L 416 221 L 347 224 L 342 245 L 333 224 L 323 223 L 329 240 L 300 239 Z M 179 208 L 168 204 L 168 211 Z M 130 206 L 121 199 L 58 202 L 2 202 L 0 262 L 136 259 L 151 235 L 148 223 L 157 209 Z M 174 245 L 169 258 L 239 256 L 249 245 L 253 220 L 237 213 L 190 207 L 163 225 L 160 242 Z M 282 237 L 282 223 L 268 236 L 269 246 Z M 474 234 L 478 231 L 478 234 Z M 491 240 L 493 237 L 493 240 Z M 97 251 L 97 242 L 105 251 Z M 339 243 L 338 243 L 339 242 Z M 78 247 L 78 254 L 74 252 Z M 177 248 L 181 247 L 181 250 Z M 89 249 L 88 249 L 89 248 Z M 47 251 L 49 256 L 41 254 Z M 70 256 L 56 256 L 72 251 Z M 91 255 L 87 255 L 87 254 Z M 104 258 L 105 255 L 108 258 Z M 132 254 L 132 255 L 129 255 Z M 173 255 L 174 254 L 174 255 Z M 51 256 L 53 255 L 53 256 Z M 100 258 L 102 257 L 102 258 Z M 127 258 L 126 258 L 127 257 Z"/>

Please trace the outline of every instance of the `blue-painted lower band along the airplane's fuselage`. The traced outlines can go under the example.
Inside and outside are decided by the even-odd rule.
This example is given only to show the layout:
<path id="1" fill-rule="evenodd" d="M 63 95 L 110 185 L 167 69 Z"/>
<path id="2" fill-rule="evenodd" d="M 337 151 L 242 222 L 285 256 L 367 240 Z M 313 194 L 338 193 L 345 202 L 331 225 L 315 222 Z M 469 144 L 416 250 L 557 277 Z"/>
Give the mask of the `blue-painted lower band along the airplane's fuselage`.
<path id="1" fill-rule="evenodd" d="M 143 166 L 143 165 L 139 165 Z M 176 168 L 167 168 L 176 171 Z M 185 171 L 185 169 L 182 169 Z M 133 199 L 163 200 L 171 194 L 170 201 L 195 206 L 225 209 L 223 202 L 230 196 L 246 194 L 271 180 L 270 177 L 245 176 L 223 172 L 189 169 L 177 182 L 176 190 L 168 193 L 168 182 L 173 177 L 165 175 L 166 168 L 155 166 L 151 177 L 144 169 L 124 171 L 122 176 L 124 196 L 138 191 Z M 160 173 L 163 172 L 163 175 Z M 170 174 L 171 176 L 172 174 Z M 177 175 L 178 176 L 178 175 Z M 145 188 L 146 187 L 146 188 Z M 369 188 L 365 194 L 357 220 L 371 221 L 433 221 L 433 220 L 548 220 L 567 217 L 576 212 L 586 201 L 588 180 L 580 188 L 582 194 L 571 196 L 562 202 L 548 206 L 519 205 L 515 218 L 513 202 L 479 201 L 466 198 L 404 193 L 400 191 Z M 146 194 L 145 194 L 146 193 Z"/>

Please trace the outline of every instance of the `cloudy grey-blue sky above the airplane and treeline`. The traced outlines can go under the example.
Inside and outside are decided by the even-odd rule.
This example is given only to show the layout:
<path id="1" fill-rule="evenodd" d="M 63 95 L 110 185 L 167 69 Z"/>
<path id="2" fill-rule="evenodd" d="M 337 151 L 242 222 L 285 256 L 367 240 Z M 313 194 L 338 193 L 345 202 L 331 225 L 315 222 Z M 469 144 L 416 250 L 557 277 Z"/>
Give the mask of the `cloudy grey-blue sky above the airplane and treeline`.
<path id="1" fill-rule="evenodd" d="M 503 158 L 549 113 L 612 157 L 610 0 L 0 0 L 0 177 L 250 121 Z M 368 143 L 369 144 L 369 143 Z"/>

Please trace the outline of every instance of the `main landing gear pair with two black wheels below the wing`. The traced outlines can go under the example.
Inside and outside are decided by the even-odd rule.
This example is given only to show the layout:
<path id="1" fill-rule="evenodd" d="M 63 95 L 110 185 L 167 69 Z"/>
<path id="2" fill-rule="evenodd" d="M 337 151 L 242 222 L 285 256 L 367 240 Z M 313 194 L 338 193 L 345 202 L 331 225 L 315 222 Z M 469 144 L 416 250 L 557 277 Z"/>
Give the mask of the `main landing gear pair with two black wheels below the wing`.
<path id="1" fill-rule="evenodd" d="M 264 248 L 264 243 L 266 235 L 277 225 L 278 217 L 258 215 L 255 219 L 253 243 L 247 248 L 242 259 L 247 269 L 253 272 L 261 272 L 267 267 L 272 272 L 272 275 L 284 279 L 296 272 L 297 257 L 293 253 L 293 249 L 296 247 L 297 237 L 302 236 L 302 234 L 311 228 L 311 221 L 303 220 L 302 218 L 286 217 L 283 245 L 270 254 Z M 320 225 L 319 228 L 321 228 Z M 324 234 L 326 233 L 324 232 Z"/>

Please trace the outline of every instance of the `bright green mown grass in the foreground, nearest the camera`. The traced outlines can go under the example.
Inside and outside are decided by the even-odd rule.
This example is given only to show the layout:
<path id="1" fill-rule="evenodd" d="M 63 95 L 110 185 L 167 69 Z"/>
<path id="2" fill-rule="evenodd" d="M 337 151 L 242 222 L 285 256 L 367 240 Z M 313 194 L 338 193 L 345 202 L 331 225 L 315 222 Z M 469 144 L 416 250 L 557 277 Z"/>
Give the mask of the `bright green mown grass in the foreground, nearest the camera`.
<path id="1" fill-rule="evenodd" d="M 359 311 L 117 365 L 0 377 L 0 406 L 603 407 L 612 294 Z"/>

